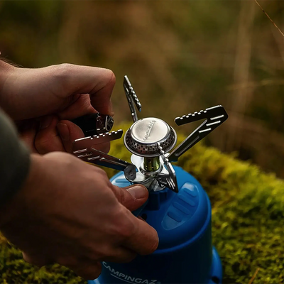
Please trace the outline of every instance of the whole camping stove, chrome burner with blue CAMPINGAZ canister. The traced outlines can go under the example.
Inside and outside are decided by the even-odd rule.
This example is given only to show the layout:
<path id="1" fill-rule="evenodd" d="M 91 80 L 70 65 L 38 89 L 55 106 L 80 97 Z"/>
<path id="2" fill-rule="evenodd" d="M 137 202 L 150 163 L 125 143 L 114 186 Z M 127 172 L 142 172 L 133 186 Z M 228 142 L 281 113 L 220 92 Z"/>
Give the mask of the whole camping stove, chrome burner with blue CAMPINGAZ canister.
<path id="1" fill-rule="evenodd" d="M 178 126 L 203 122 L 175 148 L 173 127 L 155 117 L 138 120 L 136 109 L 141 111 L 141 103 L 127 76 L 124 90 L 133 119 L 124 136 L 131 163 L 96 149 L 99 143 L 121 138 L 122 130 L 100 133 L 97 129 L 97 135 L 75 140 L 73 153 L 87 163 L 121 170 L 111 178 L 114 185 L 138 183 L 148 188 L 148 201 L 133 214 L 153 226 L 160 241 L 154 253 L 130 263 L 102 262 L 102 274 L 89 284 L 222 283 L 221 261 L 212 247 L 209 198 L 192 175 L 171 163 L 221 125 L 228 118 L 225 109 L 219 105 L 176 118 Z M 100 119 L 111 121 L 102 115 Z"/>

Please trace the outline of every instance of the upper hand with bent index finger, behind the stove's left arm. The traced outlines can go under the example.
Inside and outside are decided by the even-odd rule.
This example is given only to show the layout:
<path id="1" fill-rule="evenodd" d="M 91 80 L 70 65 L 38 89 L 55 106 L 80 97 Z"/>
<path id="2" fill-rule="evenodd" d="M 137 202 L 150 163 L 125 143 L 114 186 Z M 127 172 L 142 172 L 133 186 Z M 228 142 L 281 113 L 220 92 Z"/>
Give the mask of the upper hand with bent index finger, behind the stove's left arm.
<path id="1" fill-rule="evenodd" d="M 0 61 L 0 106 L 35 153 L 67 151 L 84 137 L 70 120 L 99 111 L 113 115 L 111 70 L 79 65 L 18 68 Z M 109 143 L 97 149 L 107 153 Z"/>

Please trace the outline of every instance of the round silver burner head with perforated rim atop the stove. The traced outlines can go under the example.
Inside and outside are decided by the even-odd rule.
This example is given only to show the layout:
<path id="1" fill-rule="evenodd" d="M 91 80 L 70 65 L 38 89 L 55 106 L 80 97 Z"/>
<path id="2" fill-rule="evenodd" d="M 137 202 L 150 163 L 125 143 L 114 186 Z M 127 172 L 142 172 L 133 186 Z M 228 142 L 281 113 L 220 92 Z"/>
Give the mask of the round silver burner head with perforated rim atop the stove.
<path id="1" fill-rule="evenodd" d="M 124 136 L 126 148 L 135 155 L 156 157 L 160 155 L 158 143 L 165 153 L 175 146 L 177 136 L 172 127 L 161 119 L 148 117 L 136 121 Z"/>

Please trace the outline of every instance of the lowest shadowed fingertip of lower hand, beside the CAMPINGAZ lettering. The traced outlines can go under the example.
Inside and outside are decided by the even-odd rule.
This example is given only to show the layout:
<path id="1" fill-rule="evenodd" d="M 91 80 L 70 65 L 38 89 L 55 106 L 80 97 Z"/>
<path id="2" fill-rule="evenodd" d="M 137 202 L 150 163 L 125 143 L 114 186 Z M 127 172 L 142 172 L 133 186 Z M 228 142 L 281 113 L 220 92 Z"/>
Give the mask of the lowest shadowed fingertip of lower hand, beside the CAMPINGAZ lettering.
<path id="1" fill-rule="evenodd" d="M 77 275 L 86 280 L 93 280 L 99 277 L 102 272 L 101 263 L 97 262 L 81 262 L 77 266 L 67 266 Z"/>

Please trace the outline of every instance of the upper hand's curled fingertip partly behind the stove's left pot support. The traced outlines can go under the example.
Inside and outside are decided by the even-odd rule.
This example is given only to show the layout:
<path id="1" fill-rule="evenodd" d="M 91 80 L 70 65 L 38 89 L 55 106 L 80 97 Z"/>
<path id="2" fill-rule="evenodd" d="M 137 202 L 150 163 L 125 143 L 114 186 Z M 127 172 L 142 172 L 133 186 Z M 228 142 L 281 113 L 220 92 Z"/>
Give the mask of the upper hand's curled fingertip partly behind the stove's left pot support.
<path id="1" fill-rule="evenodd" d="M 72 153 L 73 141 L 84 137 L 84 133 L 80 127 L 68 120 L 59 121 L 58 133 L 60 134 L 62 143 L 68 153 Z M 110 143 L 97 144 L 94 148 L 104 153 L 109 153 Z"/>

